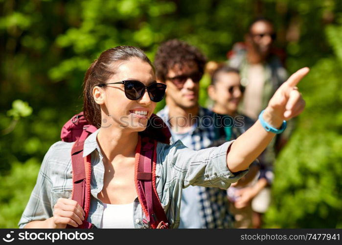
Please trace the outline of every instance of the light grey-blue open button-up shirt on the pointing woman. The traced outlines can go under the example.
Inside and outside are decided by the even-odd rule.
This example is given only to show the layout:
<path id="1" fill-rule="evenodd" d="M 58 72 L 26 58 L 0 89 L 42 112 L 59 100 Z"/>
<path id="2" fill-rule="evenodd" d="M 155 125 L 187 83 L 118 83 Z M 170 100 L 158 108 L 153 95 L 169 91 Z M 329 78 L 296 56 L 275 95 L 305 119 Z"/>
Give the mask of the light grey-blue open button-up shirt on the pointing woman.
<path id="1" fill-rule="evenodd" d="M 85 141 L 83 156 L 91 154 L 91 206 L 87 221 L 100 227 L 103 203 L 97 194 L 103 188 L 103 156 L 96 136 L 92 133 Z M 227 167 L 227 150 L 231 142 L 220 147 L 194 151 L 184 147 L 181 141 L 173 145 L 158 143 L 156 161 L 156 189 L 170 223 L 177 228 L 180 222 L 182 189 L 189 185 L 213 186 L 227 189 L 246 172 L 233 174 Z M 71 198 L 72 166 L 71 147 L 73 143 L 57 142 L 47 151 L 40 168 L 37 183 L 28 200 L 19 227 L 28 222 L 46 220 L 53 216 L 58 198 Z M 134 201 L 132 219 L 135 228 L 144 228 L 145 215 L 138 198 Z M 114 218 L 115 219 L 115 218 Z"/>

